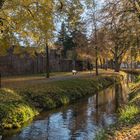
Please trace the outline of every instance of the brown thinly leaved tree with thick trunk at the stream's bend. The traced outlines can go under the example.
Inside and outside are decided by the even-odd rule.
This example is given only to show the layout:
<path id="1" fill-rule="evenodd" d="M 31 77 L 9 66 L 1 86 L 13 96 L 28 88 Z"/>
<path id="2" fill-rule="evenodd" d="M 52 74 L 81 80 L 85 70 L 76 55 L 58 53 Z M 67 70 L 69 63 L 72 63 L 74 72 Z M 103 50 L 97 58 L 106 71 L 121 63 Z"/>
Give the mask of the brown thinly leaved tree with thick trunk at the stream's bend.
<path id="1" fill-rule="evenodd" d="M 124 10 L 125 3 L 121 1 L 106 1 L 103 12 L 105 13 L 105 26 L 107 28 L 107 36 L 110 44 L 110 52 L 113 55 L 114 69 L 116 72 L 120 70 L 123 56 L 132 46 L 132 37 L 134 36 L 134 15 Z"/>

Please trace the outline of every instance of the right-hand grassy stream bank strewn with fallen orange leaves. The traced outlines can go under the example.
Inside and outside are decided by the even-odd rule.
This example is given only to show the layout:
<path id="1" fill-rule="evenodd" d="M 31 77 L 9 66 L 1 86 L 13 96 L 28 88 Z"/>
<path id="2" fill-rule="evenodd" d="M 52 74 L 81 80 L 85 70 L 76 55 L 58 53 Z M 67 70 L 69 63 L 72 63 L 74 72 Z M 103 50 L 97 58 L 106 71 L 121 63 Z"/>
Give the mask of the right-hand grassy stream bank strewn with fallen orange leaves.
<path id="1" fill-rule="evenodd" d="M 115 125 L 102 130 L 98 140 L 139 140 L 140 139 L 140 81 L 135 83 L 129 93 L 128 104 L 120 108 Z"/>

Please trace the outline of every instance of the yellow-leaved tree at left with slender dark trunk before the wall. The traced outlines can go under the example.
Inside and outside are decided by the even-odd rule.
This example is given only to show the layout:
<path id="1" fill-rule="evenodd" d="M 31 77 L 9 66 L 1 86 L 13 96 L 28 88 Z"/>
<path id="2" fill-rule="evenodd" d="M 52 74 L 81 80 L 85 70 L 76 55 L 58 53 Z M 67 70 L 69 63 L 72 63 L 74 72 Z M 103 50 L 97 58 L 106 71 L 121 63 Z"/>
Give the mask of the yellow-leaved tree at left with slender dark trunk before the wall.
<path id="1" fill-rule="evenodd" d="M 54 29 L 53 12 L 53 1 L 49 0 L 5 1 L 0 12 L 5 30 L 14 33 L 17 38 L 23 38 L 24 44 L 42 42 L 41 44 L 46 46 L 47 77 L 49 77 L 48 42 Z"/>

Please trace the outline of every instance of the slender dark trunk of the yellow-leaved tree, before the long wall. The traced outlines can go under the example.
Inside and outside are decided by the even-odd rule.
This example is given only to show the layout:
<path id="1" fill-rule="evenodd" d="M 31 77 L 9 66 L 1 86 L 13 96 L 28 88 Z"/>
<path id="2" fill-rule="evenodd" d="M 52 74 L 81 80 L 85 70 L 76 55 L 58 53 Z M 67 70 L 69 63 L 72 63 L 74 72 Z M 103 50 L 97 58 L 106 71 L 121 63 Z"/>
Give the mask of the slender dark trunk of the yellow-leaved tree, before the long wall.
<path id="1" fill-rule="evenodd" d="M 49 48 L 46 43 L 46 78 L 50 77 L 50 65 L 49 65 Z"/>

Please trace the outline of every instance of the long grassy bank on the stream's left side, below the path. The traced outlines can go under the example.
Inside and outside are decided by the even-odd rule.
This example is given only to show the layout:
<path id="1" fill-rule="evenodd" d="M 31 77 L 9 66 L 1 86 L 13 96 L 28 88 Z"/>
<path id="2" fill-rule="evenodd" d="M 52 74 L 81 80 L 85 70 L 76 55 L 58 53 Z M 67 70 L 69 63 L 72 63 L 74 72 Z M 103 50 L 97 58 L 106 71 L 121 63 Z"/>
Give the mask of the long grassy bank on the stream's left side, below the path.
<path id="1" fill-rule="evenodd" d="M 114 77 L 97 77 L 40 83 L 34 86 L 0 90 L 0 126 L 20 127 L 42 110 L 74 102 L 108 87 Z"/>

